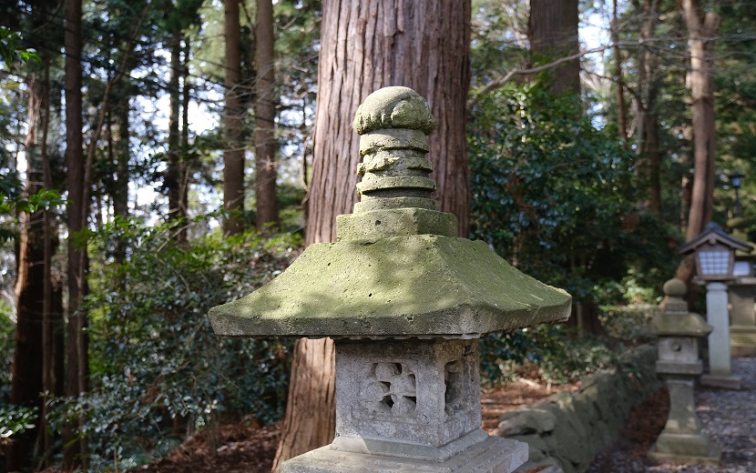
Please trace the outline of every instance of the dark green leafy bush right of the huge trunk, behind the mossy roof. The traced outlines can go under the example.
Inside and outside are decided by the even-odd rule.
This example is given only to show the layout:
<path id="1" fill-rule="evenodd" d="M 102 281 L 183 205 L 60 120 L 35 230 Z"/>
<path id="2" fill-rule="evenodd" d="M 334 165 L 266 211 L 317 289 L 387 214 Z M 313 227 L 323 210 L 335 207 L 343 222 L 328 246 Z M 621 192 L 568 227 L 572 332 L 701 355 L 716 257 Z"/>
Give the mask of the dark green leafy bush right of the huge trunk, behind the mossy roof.
<path id="1" fill-rule="evenodd" d="M 618 284 L 660 287 L 676 230 L 639 210 L 635 155 L 571 96 L 539 84 L 485 96 L 468 128 L 472 235 L 577 301 L 621 300 Z"/>

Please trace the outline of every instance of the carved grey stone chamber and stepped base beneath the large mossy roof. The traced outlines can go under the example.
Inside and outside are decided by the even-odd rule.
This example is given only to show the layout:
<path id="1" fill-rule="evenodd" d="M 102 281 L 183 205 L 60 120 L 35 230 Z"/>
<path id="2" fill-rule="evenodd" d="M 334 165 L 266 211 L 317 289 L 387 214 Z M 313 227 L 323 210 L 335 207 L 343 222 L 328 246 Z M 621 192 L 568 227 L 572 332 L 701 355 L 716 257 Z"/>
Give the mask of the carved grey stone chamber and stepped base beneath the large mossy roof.
<path id="1" fill-rule="evenodd" d="M 336 438 L 282 472 L 511 471 L 527 445 L 480 429 L 478 365 L 476 340 L 337 341 Z"/>

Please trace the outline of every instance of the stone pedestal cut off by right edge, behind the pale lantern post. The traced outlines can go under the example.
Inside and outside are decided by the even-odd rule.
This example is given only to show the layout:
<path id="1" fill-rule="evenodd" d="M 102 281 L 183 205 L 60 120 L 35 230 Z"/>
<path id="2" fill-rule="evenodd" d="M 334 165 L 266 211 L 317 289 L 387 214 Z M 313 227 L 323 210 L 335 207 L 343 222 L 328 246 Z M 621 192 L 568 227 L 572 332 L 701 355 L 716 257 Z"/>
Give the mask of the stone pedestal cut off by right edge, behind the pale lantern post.
<path id="1" fill-rule="evenodd" d="M 756 277 L 730 283 L 730 352 L 733 357 L 756 356 Z"/>

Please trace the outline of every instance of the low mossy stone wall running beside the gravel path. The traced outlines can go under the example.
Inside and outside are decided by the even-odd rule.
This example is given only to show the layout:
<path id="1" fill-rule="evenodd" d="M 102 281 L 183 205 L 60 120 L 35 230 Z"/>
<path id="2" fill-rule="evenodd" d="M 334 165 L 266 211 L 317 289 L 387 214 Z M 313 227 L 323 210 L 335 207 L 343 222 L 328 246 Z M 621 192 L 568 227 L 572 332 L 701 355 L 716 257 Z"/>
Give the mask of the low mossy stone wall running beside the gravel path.
<path id="1" fill-rule="evenodd" d="M 632 370 L 598 372 L 584 378 L 578 392 L 560 391 L 532 407 L 503 414 L 494 435 L 516 438 L 530 449 L 528 462 L 516 471 L 548 464 L 554 467 L 543 471 L 586 471 L 617 439 L 630 409 L 659 389 L 656 347 L 638 347 L 633 358 Z"/>

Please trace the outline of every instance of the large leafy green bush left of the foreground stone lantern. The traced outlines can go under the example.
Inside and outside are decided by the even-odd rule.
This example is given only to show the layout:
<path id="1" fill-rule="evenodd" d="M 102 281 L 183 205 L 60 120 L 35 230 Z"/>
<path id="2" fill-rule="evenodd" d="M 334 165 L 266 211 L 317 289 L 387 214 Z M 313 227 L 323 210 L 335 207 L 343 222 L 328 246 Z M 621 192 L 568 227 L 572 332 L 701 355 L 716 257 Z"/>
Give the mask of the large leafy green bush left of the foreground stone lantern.
<path id="1" fill-rule="evenodd" d="M 179 245 L 169 226 L 133 221 L 89 236 L 105 259 L 118 241 L 128 241 L 127 261 L 111 259 L 90 277 L 92 389 L 55 403 L 57 428 L 84 418 L 93 468 L 144 462 L 221 415 L 280 418 L 289 347 L 216 337 L 207 313 L 279 274 L 300 241 L 244 234 Z"/>

